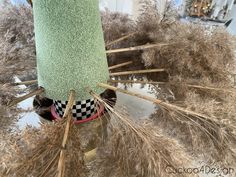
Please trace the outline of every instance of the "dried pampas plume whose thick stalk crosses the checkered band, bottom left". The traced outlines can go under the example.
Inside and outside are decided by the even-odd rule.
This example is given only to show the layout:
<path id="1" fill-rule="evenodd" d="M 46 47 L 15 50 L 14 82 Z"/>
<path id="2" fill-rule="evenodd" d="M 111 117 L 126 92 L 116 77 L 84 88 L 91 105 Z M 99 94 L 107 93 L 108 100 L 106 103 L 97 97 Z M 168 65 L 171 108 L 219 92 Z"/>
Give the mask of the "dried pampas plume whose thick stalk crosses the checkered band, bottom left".
<path id="1" fill-rule="evenodd" d="M 16 176 L 85 176 L 84 155 L 79 131 L 72 121 L 75 91 L 70 91 L 61 121 L 44 124 L 41 130 L 28 129 L 23 140 L 16 140 L 17 151 L 10 175 Z M 9 174 L 7 174 L 9 175 Z"/>

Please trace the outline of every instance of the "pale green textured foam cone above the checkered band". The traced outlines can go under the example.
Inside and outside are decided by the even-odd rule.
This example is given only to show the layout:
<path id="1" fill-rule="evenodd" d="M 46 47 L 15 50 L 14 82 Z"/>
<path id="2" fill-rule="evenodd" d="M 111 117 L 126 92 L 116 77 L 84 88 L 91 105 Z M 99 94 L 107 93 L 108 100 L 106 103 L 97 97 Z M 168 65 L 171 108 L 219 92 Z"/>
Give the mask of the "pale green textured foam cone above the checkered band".
<path id="1" fill-rule="evenodd" d="M 36 0 L 33 5 L 38 83 L 45 96 L 76 100 L 109 78 L 98 0 Z"/>

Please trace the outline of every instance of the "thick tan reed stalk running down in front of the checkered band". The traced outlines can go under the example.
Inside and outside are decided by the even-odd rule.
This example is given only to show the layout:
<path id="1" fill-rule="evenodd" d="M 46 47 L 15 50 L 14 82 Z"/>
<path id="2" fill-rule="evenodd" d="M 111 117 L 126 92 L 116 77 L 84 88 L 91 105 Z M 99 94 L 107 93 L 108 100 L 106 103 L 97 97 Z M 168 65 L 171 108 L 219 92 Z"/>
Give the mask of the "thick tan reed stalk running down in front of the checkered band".
<path id="1" fill-rule="evenodd" d="M 57 177 L 64 177 L 64 174 L 65 174 L 65 151 L 66 151 L 66 144 L 67 144 L 69 131 L 70 131 L 70 125 L 72 123 L 71 110 L 72 110 L 74 101 L 75 101 L 75 91 L 72 90 L 72 91 L 70 91 L 68 104 L 66 106 L 66 110 L 63 115 L 63 118 L 67 118 L 67 121 L 66 121 L 65 133 L 63 136 L 63 140 L 62 140 L 62 147 L 61 147 L 62 149 L 61 149 L 60 157 L 59 157 L 59 161 L 58 161 L 58 175 L 57 175 Z"/>

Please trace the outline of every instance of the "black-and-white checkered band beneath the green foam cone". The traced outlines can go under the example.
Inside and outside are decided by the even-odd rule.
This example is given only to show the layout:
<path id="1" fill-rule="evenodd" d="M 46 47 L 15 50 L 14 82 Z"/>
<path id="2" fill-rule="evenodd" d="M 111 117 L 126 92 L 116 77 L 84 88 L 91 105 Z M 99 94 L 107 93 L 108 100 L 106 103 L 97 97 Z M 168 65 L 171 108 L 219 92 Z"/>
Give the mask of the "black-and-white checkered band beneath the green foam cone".
<path id="1" fill-rule="evenodd" d="M 63 116 L 67 103 L 68 101 L 60 101 L 60 100 L 53 101 L 56 113 L 60 117 Z M 96 114 L 97 110 L 98 106 L 95 103 L 94 99 L 92 98 L 83 101 L 76 101 L 75 105 L 72 108 L 72 114 L 73 117 L 76 118 L 77 120 L 83 120 Z"/>

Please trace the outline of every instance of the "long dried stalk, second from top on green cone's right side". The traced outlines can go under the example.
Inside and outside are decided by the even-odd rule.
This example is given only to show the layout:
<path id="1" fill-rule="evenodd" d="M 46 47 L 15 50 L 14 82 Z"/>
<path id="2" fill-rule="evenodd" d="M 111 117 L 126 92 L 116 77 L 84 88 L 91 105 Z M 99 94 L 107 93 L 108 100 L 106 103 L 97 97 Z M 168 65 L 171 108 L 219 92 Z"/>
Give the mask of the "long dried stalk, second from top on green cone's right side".
<path id="1" fill-rule="evenodd" d="M 146 44 L 146 45 L 140 45 L 140 46 L 135 46 L 135 47 L 107 50 L 106 53 L 111 54 L 111 53 L 129 52 L 129 51 L 137 51 L 137 50 L 146 50 L 146 49 L 169 46 L 169 45 L 171 44 L 166 44 L 166 43 Z"/>

